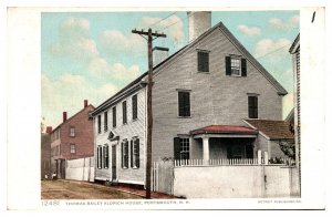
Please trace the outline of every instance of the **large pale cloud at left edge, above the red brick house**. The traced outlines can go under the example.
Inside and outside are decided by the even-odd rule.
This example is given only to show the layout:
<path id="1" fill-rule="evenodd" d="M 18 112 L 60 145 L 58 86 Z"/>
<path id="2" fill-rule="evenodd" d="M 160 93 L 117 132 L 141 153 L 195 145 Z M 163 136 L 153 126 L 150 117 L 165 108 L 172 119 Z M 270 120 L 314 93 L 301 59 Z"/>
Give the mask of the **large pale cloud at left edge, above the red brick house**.
<path id="1" fill-rule="evenodd" d="M 70 72 L 56 79 L 51 79 L 42 73 L 42 113 L 46 117 L 45 124 L 55 127 L 62 121 L 63 111 L 72 116 L 83 108 L 84 100 L 89 100 L 91 104 L 97 106 L 117 91 L 118 86 L 112 83 L 94 87 L 84 76 Z"/>

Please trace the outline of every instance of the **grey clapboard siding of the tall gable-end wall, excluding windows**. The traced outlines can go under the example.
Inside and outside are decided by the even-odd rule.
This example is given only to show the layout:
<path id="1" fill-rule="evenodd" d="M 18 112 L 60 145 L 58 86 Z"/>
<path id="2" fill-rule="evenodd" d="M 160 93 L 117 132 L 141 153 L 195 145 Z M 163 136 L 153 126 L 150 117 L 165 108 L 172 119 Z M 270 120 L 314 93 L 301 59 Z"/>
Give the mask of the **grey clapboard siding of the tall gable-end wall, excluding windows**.
<path id="1" fill-rule="evenodd" d="M 209 73 L 197 72 L 197 50 L 209 53 Z M 173 157 L 173 137 L 211 124 L 245 125 L 247 93 L 259 94 L 259 118 L 281 120 L 281 100 L 272 84 L 247 60 L 247 76 L 226 75 L 225 56 L 242 55 L 216 29 L 177 59 L 162 66 L 153 86 L 153 161 Z M 246 56 L 242 56 L 246 58 Z M 177 89 L 190 90 L 191 116 L 178 117 Z M 197 146 L 193 144 L 191 147 Z M 193 151 L 197 155 L 196 151 Z"/>

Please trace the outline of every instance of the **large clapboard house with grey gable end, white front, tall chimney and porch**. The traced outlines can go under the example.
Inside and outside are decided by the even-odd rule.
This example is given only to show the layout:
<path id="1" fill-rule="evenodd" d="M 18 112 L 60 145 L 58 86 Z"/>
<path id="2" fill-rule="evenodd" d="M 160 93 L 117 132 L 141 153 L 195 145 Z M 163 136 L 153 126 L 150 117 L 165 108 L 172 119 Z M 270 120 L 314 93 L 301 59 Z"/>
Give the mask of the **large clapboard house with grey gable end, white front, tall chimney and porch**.
<path id="1" fill-rule="evenodd" d="M 268 142 L 258 140 L 259 131 L 243 120 L 280 121 L 282 96 L 287 91 L 221 22 L 211 28 L 210 12 L 189 12 L 188 17 L 191 42 L 154 68 L 152 159 L 257 157 L 257 151 Z M 102 159 L 102 168 L 96 168 L 96 179 L 107 177 L 111 180 L 112 174 L 116 174 L 114 180 L 137 183 L 139 179 L 137 184 L 144 184 L 146 75 L 141 75 L 92 113 L 95 154 L 100 156 L 96 161 Z M 105 112 L 111 114 L 113 107 L 117 111 L 116 123 L 122 121 L 122 104 L 131 102 L 133 94 L 142 97 L 137 105 L 142 111 L 138 122 L 129 123 L 128 118 L 126 124 L 112 131 L 100 131 L 103 120 L 112 123 L 103 115 Z M 141 166 L 136 170 L 123 167 L 124 163 L 131 165 L 136 161 L 132 154 L 135 153 L 132 148 L 135 137 L 139 138 Z M 116 141 L 115 147 L 110 152 L 112 141 Z M 104 145 L 108 146 L 106 154 L 103 154 Z M 269 154 L 277 152 L 273 148 L 268 149 Z M 112 159 L 106 157 L 105 161 L 105 156 L 111 155 Z M 103 159 L 112 162 L 107 164 L 107 170 L 103 168 Z M 113 161 L 116 169 L 112 172 Z"/>

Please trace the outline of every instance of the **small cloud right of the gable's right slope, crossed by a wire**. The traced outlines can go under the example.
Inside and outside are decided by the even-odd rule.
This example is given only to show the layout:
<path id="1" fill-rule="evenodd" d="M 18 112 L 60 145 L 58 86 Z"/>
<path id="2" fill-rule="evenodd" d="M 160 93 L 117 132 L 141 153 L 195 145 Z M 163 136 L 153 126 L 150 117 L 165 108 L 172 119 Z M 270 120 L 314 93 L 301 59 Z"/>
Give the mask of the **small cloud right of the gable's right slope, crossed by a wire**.
<path id="1" fill-rule="evenodd" d="M 288 52 L 290 44 L 291 41 L 288 39 L 262 39 L 256 44 L 253 55 L 256 58 L 267 56 L 270 59 L 280 59 L 282 58 L 280 53 Z"/>

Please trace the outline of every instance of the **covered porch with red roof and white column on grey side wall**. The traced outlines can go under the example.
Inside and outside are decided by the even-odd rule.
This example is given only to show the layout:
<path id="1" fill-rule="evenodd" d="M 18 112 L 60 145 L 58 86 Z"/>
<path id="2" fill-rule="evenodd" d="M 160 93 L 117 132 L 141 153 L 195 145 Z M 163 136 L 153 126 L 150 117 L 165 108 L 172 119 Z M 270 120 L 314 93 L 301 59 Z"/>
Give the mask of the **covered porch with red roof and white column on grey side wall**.
<path id="1" fill-rule="evenodd" d="M 211 125 L 190 132 L 190 159 L 211 164 L 220 159 L 257 158 L 258 132 L 246 126 Z"/>

